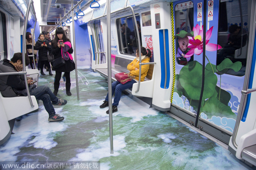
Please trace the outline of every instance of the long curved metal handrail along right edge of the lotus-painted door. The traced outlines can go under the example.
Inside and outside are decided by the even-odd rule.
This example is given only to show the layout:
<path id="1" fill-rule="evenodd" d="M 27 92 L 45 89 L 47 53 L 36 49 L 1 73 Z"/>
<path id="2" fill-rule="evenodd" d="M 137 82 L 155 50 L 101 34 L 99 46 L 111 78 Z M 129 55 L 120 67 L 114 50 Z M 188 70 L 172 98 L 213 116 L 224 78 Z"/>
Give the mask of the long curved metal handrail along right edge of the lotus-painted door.
<path id="1" fill-rule="evenodd" d="M 255 6 L 256 6 L 256 1 L 252 1 L 252 7 L 255 7 Z M 251 15 L 251 20 L 250 20 L 250 23 L 251 23 L 250 30 L 254 30 L 255 26 L 256 26 L 256 23 L 255 23 L 256 10 L 254 10 L 252 14 L 253 15 Z M 252 31 L 251 36 L 249 37 L 249 42 L 254 42 L 255 41 L 254 37 L 255 37 L 255 32 Z M 253 43 L 250 43 L 249 46 L 248 46 L 248 49 L 253 49 L 253 45 L 254 45 Z M 246 90 L 249 86 L 250 70 L 251 70 L 251 67 L 252 67 L 252 53 L 253 53 L 252 50 L 248 51 L 247 61 L 246 61 L 246 68 L 245 68 L 245 75 L 244 75 L 244 86 L 243 86 L 244 90 Z M 253 73 L 251 73 L 251 74 L 253 74 Z M 235 127 L 234 127 L 232 140 L 231 140 L 233 146 L 236 149 L 238 147 L 238 145 L 236 143 L 236 135 L 237 135 L 237 132 L 238 132 L 238 127 L 239 127 L 240 121 L 242 120 L 242 117 L 243 117 L 246 101 L 247 101 L 247 95 L 242 94 L 240 107 L 239 107 L 237 117 L 236 117 L 236 124 L 235 124 Z"/>

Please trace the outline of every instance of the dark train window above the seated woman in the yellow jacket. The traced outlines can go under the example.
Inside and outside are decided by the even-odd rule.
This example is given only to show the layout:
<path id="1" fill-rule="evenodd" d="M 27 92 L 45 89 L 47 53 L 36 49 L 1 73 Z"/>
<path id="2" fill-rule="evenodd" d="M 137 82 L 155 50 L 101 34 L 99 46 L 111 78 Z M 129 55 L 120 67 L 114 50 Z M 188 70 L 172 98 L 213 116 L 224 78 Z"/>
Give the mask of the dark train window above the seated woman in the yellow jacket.
<path id="1" fill-rule="evenodd" d="M 136 23 L 140 23 L 140 16 L 137 14 Z M 138 48 L 138 37 L 132 16 L 118 18 L 116 20 L 118 30 L 119 50 L 122 54 L 136 55 Z M 141 39 L 141 34 L 140 39 Z"/>

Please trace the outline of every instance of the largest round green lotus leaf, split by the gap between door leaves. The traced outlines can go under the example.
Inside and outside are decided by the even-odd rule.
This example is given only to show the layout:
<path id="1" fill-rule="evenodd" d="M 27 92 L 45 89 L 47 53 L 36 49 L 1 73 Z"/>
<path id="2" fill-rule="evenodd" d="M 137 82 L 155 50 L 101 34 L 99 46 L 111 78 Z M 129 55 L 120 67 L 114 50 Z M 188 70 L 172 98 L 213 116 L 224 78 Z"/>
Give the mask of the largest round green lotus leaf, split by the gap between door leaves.
<path id="1" fill-rule="evenodd" d="M 202 67 L 202 64 L 198 61 L 191 61 L 180 70 L 180 85 L 186 91 L 186 97 L 192 100 L 199 100 L 200 97 L 202 88 Z M 210 98 L 214 94 L 217 80 L 217 76 L 214 73 L 205 70 L 203 100 Z"/>

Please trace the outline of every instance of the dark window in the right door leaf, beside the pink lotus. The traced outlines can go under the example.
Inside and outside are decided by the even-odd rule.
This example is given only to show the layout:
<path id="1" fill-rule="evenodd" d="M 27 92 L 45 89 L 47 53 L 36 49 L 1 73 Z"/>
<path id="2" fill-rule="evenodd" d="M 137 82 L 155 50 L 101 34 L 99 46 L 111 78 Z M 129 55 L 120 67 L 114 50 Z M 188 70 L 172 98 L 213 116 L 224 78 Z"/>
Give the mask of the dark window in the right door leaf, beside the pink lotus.
<path id="1" fill-rule="evenodd" d="M 242 5 L 241 5 L 242 4 Z M 250 8 L 250 7 L 249 7 Z M 217 70 L 220 74 L 244 76 L 249 39 L 248 0 L 220 2 L 218 44 L 222 47 L 217 51 Z M 238 70 L 222 68 L 221 63 L 232 61 Z M 242 66 L 241 66 L 242 65 Z M 218 67 L 219 66 L 219 67 Z M 232 66 L 232 65 L 231 65 Z"/>

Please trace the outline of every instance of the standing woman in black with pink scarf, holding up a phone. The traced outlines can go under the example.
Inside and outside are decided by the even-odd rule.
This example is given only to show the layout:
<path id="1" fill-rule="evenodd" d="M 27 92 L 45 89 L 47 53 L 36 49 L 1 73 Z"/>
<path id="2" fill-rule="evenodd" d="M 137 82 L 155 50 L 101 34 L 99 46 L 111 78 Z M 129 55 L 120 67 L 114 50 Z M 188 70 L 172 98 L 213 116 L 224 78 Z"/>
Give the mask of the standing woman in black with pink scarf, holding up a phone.
<path id="1" fill-rule="evenodd" d="M 63 43 L 59 42 L 59 40 L 62 40 Z M 64 53 L 64 51 L 66 51 L 67 48 L 69 48 L 67 53 Z M 64 72 L 66 76 L 66 93 L 68 96 L 71 96 L 70 72 L 75 69 L 75 62 L 73 61 L 73 58 L 71 55 L 72 53 L 73 53 L 73 48 L 64 30 L 61 27 L 56 28 L 55 38 L 52 40 L 52 54 L 54 55 L 54 60 L 59 57 L 62 57 L 65 60 L 65 64 L 58 68 L 54 67 L 56 75 L 55 75 L 55 81 L 54 81 L 53 94 L 55 96 L 57 96 L 58 94 L 62 72 Z"/>

